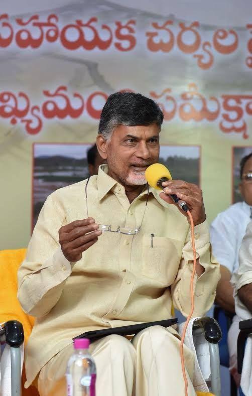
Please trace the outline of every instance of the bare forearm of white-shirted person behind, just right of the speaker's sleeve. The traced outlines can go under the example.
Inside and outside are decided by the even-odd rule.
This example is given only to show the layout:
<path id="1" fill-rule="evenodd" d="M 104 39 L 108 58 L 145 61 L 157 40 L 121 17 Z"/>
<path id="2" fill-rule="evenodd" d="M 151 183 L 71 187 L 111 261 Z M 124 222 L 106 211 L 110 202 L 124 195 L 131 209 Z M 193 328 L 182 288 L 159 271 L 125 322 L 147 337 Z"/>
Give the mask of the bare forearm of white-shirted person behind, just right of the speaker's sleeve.
<path id="1" fill-rule="evenodd" d="M 226 267 L 220 266 L 220 280 L 216 288 L 215 303 L 225 311 L 235 313 L 233 288 L 230 279 L 230 271 Z"/>

